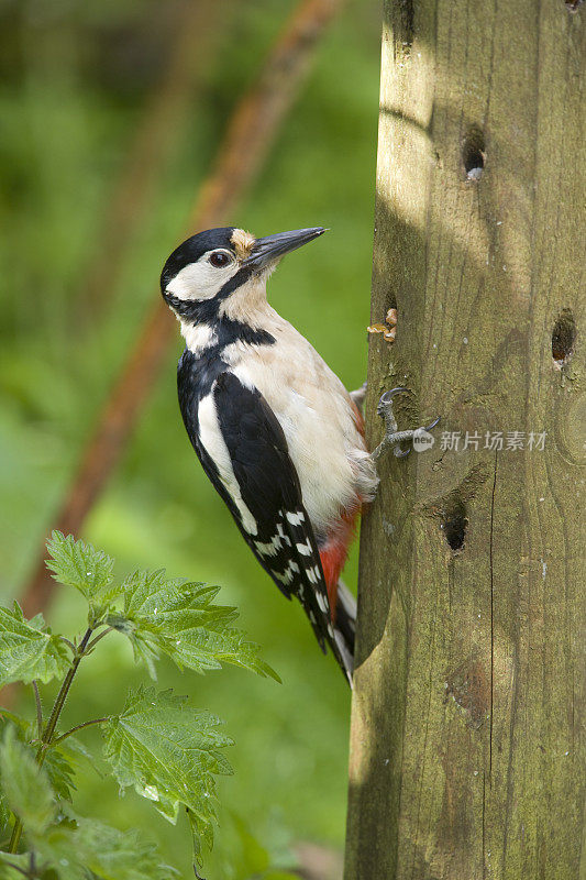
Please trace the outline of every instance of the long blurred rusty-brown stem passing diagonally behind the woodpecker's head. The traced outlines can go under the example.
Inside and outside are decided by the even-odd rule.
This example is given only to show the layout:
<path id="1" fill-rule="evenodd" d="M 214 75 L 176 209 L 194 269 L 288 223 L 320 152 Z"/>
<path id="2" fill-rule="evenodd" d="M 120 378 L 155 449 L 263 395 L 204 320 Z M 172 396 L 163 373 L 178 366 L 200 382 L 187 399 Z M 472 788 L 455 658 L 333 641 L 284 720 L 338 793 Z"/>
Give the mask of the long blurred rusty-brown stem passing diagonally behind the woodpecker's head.
<path id="1" fill-rule="evenodd" d="M 287 22 L 256 85 L 236 106 L 187 223 L 187 232 L 226 221 L 254 180 L 308 73 L 317 44 L 343 0 L 302 0 Z M 98 418 L 53 528 L 78 534 L 125 448 L 173 339 L 175 321 L 155 294 L 134 348 Z M 23 593 L 27 616 L 46 607 L 53 581 L 43 544 Z"/>

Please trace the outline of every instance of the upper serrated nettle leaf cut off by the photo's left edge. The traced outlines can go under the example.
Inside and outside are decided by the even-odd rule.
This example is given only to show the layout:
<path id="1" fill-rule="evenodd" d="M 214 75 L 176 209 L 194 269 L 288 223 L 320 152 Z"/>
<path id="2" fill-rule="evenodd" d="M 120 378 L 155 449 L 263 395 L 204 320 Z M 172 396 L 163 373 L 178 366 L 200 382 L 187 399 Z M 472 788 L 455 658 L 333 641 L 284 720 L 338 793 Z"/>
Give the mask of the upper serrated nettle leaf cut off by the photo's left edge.
<path id="1" fill-rule="evenodd" d="M 46 684 L 67 671 L 65 642 L 48 629 L 43 631 L 38 618 L 25 620 L 16 602 L 12 610 L 0 607 L 0 688 L 14 681 L 30 684 L 34 679 Z"/>

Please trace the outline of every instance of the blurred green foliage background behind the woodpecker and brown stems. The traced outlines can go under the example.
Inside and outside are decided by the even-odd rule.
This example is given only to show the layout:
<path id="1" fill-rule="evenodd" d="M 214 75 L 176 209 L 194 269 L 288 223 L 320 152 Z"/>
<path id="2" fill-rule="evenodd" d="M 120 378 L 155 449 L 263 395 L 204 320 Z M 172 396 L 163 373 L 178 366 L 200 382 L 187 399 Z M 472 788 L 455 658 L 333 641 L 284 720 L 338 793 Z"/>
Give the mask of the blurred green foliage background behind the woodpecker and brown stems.
<path id="1" fill-rule="evenodd" d="M 168 16 L 177 2 L 4 0 L 0 6 L 0 588 L 19 595 L 75 470 L 100 403 L 155 296 L 161 266 L 178 243 L 228 114 L 292 3 L 225 3 L 219 51 L 189 118 L 176 132 L 148 221 L 106 305 L 81 310 L 78 294 L 100 221 L 141 113 L 166 63 Z M 379 10 L 352 2 L 328 33 L 313 72 L 236 217 L 267 234 L 323 224 L 332 232 L 291 255 L 273 278 L 272 302 L 355 387 L 366 369 L 378 100 Z M 350 694 L 319 652 L 299 607 L 261 571 L 199 469 L 176 400 L 177 344 L 85 536 L 121 570 L 159 568 L 221 584 L 220 601 L 263 646 L 283 685 L 239 669 L 177 682 L 159 664 L 161 689 L 226 721 L 235 776 L 220 780 L 222 828 L 207 868 L 226 860 L 252 832 L 272 851 L 314 840 L 342 846 Z M 355 553 L 346 570 L 354 584 Z M 65 601 L 66 600 L 66 601 Z M 59 593 L 56 629 L 82 626 L 82 601 Z M 64 724 L 119 705 L 135 684 L 122 640 L 92 656 L 75 683 Z M 81 701 L 78 702 L 78 701 Z M 88 730 L 87 736 L 97 735 Z M 147 827 L 165 857 L 189 876 L 189 843 L 153 818 L 139 798 L 118 799 L 90 776 L 81 813 L 118 827 Z M 91 805 L 91 809 L 88 809 Z M 185 853 L 181 847 L 185 844 Z M 230 855 L 231 854 L 231 855 Z M 213 870 L 215 869 L 215 873 Z"/>

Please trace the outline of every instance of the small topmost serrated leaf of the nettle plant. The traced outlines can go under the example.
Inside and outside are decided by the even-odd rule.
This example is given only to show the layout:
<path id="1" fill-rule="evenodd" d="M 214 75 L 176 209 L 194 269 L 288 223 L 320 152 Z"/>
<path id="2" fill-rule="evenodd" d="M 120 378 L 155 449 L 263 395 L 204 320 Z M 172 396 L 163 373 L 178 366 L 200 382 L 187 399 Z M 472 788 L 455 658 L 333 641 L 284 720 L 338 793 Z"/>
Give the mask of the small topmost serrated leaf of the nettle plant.
<path id="1" fill-rule="evenodd" d="M 52 534 L 47 550 L 47 568 L 55 580 L 74 586 L 88 602 L 107 605 L 120 595 L 120 587 L 112 584 L 114 560 L 102 550 L 60 531 Z"/>

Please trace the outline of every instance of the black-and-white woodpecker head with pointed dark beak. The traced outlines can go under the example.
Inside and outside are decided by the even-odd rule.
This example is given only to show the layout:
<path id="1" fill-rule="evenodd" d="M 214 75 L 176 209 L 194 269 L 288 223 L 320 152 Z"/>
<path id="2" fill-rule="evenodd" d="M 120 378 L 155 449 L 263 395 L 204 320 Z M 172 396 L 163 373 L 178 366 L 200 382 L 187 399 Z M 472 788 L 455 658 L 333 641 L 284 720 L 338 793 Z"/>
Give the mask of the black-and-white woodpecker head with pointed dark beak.
<path id="1" fill-rule="evenodd" d="M 183 321 L 213 322 L 247 311 L 266 297 L 266 279 L 289 251 L 317 239 L 322 227 L 255 239 L 233 227 L 199 232 L 177 248 L 163 268 L 161 292 Z"/>

